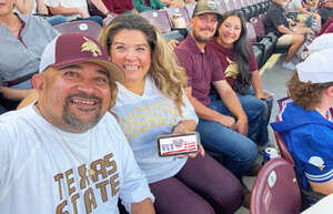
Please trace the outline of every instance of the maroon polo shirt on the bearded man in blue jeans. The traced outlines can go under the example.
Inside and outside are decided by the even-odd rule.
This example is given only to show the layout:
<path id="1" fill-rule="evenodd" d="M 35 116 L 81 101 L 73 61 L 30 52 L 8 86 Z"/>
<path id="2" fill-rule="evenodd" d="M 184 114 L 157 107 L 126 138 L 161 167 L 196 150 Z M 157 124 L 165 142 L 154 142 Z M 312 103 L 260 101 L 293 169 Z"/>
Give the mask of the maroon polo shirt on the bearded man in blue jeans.
<path id="1" fill-rule="evenodd" d="M 188 86 L 192 88 L 192 95 L 208 106 L 211 103 L 209 98 L 211 83 L 224 80 L 224 71 L 219 58 L 208 47 L 204 48 L 204 52 L 201 52 L 191 34 L 174 51 L 180 64 L 186 70 Z"/>

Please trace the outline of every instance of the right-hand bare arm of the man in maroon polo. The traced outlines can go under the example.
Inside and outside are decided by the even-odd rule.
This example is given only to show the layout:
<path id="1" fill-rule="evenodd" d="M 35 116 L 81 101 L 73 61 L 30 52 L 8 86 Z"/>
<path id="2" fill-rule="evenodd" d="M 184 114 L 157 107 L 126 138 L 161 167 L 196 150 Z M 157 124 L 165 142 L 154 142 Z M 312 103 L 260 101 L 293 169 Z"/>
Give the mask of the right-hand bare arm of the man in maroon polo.
<path id="1" fill-rule="evenodd" d="M 248 135 L 249 126 L 248 126 L 248 116 L 238 99 L 235 92 L 229 85 L 226 80 L 220 80 L 213 82 L 213 85 L 219 92 L 219 95 L 229 111 L 238 119 L 236 121 L 236 130 L 239 133 L 243 135 Z"/>

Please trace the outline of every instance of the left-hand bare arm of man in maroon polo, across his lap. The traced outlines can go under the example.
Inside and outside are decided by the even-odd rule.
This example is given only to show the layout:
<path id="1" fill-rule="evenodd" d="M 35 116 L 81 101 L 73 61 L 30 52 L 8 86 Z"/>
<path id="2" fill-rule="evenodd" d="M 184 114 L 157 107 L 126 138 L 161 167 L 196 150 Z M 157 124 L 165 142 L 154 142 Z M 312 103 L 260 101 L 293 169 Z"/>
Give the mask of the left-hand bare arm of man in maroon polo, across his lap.
<path id="1" fill-rule="evenodd" d="M 188 88 L 185 90 L 185 93 L 199 118 L 208 120 L 208 121 L 218 122 L 218 123 L 220 123 L 226 128 L 230 128 L 232 130 L 235 129 L 235 121 L 232 116 L 220 114 L 219 112 L 202 104 L 199 100 L 196 100 L 194 96 L 192 96 L 192 88 Z"/>

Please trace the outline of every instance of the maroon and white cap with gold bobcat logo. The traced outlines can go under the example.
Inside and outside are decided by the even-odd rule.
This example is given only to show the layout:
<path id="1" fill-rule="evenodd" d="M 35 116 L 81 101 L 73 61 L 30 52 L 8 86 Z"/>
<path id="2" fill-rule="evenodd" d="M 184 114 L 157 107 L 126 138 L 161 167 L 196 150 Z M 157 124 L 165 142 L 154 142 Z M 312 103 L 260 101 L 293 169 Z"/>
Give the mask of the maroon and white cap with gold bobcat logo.
<path id="1" fill-rule="evenodd" d="M 124 80 L 122 69 L 110 61 L 108 52 L 95 39 L 83 33 L 61 34 L 51 41 L 41 57 L 39 72 L 49 67 L 61 69 L 78 62 L 93 62 L 107 69 L 111 80 Z"/>

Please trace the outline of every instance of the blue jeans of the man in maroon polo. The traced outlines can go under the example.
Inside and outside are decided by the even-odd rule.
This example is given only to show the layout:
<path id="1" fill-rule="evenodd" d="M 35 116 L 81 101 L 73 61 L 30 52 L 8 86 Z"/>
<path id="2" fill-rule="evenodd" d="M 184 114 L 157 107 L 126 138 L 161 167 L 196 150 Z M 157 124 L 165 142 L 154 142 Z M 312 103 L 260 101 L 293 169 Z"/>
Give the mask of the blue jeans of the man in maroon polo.
<path id="1" fill-rule="evenodd" d="M 224 115 L 232 115 L 218 95 L 210 95 L 209 108 Z M 258 99 L 256 99 L 258 100 Z M 200 119 L 196 131 L 201 135 L 203 146 L 212 152 L 226 156 L 225 166 L 236 176 L 242 176 L 255 162 L 258 149 L 253 141 L 256 140 L 262 125 L 265 123 L 265 105 L 253 101 L 244 95 L 241 100 L 244 112 L 249 120 L 249 137 L 213 121 Z M 246 103 L 246 104 L 245 104 Z"/>

